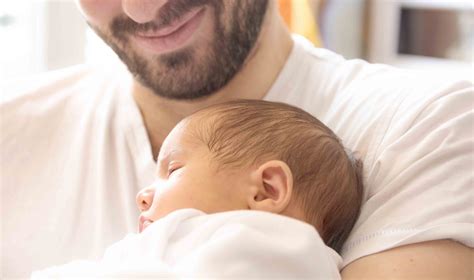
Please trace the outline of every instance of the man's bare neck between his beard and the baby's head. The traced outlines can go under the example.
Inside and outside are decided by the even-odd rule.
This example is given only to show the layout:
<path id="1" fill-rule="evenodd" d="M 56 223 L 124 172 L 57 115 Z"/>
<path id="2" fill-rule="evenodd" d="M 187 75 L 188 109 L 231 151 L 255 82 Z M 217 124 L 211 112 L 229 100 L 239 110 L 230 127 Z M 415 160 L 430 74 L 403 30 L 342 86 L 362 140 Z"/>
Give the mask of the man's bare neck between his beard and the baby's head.
<path id="1" fill-rule="evenodd" d="M 183 118 L 207 106 L 232 99 L 262 99 L 276 80 L 293 41 L 281 19 L 268 11 L 256 47 L 240 72 L 218 92 L 196 101 L 170 100 L 153 94 L 134 81 L 133 97 L 140 108 L 153 157 L 171 129 Z M 271 22 L 268 22 L 271 21 Z"/>

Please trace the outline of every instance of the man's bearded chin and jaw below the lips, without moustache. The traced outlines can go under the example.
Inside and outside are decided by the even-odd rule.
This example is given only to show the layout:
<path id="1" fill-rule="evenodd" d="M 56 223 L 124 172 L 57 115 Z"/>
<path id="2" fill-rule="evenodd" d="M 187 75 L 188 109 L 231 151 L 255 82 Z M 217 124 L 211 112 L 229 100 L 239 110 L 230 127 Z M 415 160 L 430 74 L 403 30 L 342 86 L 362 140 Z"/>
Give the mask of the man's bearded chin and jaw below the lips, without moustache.
<path id="1" fill-rule="evenodd" d="M 128 37 L 106 36 L 97 28 L 94 30 L 114 49 L 135 79 L 154 94 L 174 100 L 198 100 L 224 87 L 242 69 L 257 41 L 267 5 L 268 0 L 248 0 L 245 13 L 244 8 L 235 7 L 228 28 L 219 21 L 221 5 L 213 5 L 214 37 L 208 47 L 200 50 L 202 54 L 190 46 L 145 58 L 129 47 Z M 123 22 L 121 19 L 118 26 Z M 111 29 L 114 31 L 114 23 Z"/>

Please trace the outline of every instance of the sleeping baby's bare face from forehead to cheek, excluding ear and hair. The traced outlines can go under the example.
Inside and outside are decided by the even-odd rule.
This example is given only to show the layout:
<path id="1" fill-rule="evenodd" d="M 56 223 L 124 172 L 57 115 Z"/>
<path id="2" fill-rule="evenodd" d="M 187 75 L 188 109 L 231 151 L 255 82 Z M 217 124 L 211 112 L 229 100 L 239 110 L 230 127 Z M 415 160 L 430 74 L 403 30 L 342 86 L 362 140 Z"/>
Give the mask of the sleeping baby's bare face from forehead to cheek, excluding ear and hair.
<path id="1" fill-rule="evenodd" d="M 142 211 L 139 232 L 153 221 L 185 208 L 205 213 L 248 209 L 246 168 L 219 169 L 209 149 L 189 133 L 192 124 L 178 124 L 158 155 L 155 182 L 137 195 Z"/>

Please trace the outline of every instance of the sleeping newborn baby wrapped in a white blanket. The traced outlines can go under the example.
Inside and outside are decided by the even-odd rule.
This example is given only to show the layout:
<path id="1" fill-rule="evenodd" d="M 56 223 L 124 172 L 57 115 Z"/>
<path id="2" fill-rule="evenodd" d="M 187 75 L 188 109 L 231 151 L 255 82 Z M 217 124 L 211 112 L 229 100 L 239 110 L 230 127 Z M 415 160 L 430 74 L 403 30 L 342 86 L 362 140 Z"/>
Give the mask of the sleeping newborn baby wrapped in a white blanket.
<path id="1" fill-rule="evenodd" d="M 137 195 L 139 234 L 100 260 L 32 278 L 339 279 L 361 164 L 310 114 L 267 101 L 214 105 L 173 128 L 157 164 Z"/>

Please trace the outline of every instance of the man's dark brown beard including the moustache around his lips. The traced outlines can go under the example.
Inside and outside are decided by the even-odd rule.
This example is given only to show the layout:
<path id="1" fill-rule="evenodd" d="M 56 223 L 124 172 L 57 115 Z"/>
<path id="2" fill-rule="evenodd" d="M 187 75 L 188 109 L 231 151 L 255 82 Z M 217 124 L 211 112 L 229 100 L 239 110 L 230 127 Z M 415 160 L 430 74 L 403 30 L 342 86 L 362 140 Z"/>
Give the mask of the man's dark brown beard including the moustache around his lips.
<path id="1" fill-rule="evenodd" d="M 225 7 L 233 3 L 233 6 Z M 137 32 L 157 30 L 193 8 L 207 6 L 214 34 L 207 46 L 144 57 L 131 47 Z M 115 18 L 106 33 L 91 26 L 127 65 L 135 79 L 154 94 L 175 100 L 196 100 L 224 87 L 244 66 L 259 37 L 268 0 L 175 0 L 165 4 L 157 20 L 145 24 Z M 207 11 L 206 11 L 207 12 Z"/>

